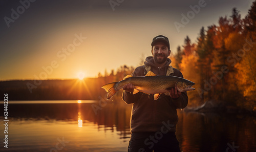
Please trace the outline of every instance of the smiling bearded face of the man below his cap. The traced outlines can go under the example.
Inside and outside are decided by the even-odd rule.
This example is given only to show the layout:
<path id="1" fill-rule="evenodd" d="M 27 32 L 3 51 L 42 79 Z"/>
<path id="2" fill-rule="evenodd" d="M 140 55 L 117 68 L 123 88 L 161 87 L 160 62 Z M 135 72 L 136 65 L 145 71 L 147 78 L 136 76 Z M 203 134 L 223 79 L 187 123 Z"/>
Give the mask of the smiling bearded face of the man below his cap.
<path id="1" fill-rule="evenodd" d="M 152 48 L 152 55 L 155 62 L 162 64 L 170 55 L 170 50 L 163 42 L 156 42 Z"/>

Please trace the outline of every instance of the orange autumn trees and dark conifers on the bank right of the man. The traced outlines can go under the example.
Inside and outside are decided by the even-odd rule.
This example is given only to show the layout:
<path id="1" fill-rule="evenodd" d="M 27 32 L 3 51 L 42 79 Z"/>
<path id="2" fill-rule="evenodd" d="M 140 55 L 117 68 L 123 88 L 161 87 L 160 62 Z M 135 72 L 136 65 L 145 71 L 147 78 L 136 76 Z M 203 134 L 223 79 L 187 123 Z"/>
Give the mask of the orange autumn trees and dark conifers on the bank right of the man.
<path id="1" fill-rule="evenodd" d="M 207 100 L 256 110 L 256 1 L 245 18 L 237 8 L 218 25 L 201 28 L 196 43 L 187 36 L 171 57 L 184 78 L 196 83 L 190 106 Z"/>

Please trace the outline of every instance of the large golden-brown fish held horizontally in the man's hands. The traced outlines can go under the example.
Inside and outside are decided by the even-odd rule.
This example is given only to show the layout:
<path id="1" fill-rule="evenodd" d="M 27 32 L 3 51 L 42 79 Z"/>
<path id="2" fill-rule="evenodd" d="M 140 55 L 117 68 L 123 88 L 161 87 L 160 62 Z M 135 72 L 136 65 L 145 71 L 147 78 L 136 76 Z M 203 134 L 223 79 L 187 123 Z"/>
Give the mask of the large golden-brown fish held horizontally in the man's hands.
<path id="1" fill-rule="evenodd" d="M 194 82 L 176 76 L 157 76 L 149 71 L 145 76 L 134 77 L 127 75 L 119 82 L 113 82 L 102 86 L 108 92 L 107 99 L 113 97 L 118 90 L 122 89 L 127 83 L 132 83 L 135 86 L 133 94 L 143 92 L 145 94 L 154 94 L 154 99 L 157 100 L 162 93 L 169 93 L 172 88 L 177 87 L 179 92 L 195 90 L 191 88 Z"/>

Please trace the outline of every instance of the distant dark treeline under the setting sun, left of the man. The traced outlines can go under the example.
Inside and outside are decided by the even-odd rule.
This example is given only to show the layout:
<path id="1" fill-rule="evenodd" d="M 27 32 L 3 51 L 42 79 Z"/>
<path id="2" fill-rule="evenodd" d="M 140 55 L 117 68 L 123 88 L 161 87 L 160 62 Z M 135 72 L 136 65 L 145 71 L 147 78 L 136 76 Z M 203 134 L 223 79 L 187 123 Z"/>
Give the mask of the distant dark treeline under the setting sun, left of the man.
<path id="1" fill-rule="evenodd" d="M 115 72 L 98 78 L 70 79 L 70 80 L 12 80 L 0 81 L 2 99 L 8 94 L 9 100 L 99 100 L 106 97 L 101 88 L 106 83 L 120 81 L 127 74 L 131 74 L 133 67 L 121 66 Z M 117 94 L 121 95 L 121 91 Z M 117 99 L 117 97 L 113 98 Z M 119 96 L 120 99 L 120 96 Z"/>

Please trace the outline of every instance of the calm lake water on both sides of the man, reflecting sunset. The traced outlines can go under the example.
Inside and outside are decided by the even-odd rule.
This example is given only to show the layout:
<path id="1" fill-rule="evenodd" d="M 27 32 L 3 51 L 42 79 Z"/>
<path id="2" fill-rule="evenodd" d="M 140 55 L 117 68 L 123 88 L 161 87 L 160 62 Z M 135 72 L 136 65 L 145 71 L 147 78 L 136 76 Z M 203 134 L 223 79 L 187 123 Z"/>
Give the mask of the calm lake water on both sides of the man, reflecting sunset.
<path id="1" fill-rule="evenodd" d="M 4 103 L 1 102 L 4 113 Z M 132 105 L 99 101 L 9 101 L 8 148 L 0 151 L 127 151 Z M 178 110 L 181 150 L 256 151 L 256 118 Z M 4 117 L 1 115 L 1 121 Z"/>

